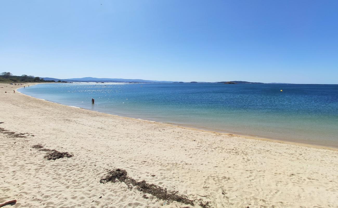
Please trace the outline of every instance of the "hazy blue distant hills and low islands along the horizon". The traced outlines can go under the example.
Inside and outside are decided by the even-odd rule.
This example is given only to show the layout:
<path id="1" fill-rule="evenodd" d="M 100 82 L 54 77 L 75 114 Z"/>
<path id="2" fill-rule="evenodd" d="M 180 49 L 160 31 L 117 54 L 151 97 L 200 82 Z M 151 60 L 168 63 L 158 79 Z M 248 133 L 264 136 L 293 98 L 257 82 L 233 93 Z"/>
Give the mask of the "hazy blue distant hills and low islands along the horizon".
<path id="1" fill-rule="evenodd" d="M 54 80 L 57 82 L 61 80 L 63 82 L 125 82 L 125 83 L 183 83 L 179 81 L 159 81 L 159 80 L 145 80 L 145 79 L 120 79 L 120 78 L 95 78 L 95 77 L 82 77 L 82 78 L 71 78 L 71 79 L 57 79 L 51 77 L 43 77 L 44 80 Z M 246 81 L 224 81 L 215 83 L 237 83 L 237 84 L 264 84 L 261 82 L 246 82 Z M 207 83 L 207 82 L 190 82 L 190 83 Z M 272 83 L 271 83 L 272 84 Z M 274 83 L 273 83 L 274 84 Z"/>

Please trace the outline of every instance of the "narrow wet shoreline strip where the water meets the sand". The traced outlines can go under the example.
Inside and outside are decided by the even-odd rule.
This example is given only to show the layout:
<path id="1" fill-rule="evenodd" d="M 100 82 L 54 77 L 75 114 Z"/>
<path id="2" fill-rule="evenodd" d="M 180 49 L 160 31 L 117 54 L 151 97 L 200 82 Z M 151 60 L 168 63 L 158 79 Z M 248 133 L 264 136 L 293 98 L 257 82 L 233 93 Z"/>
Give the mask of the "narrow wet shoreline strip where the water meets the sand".
<path id="1" fill-rule="evenodd" d="M 36 84 L 50 84 L 50 83 L 36 83 Z M 36 84 L 34 84 L 34 85 L 36 85 Z M 20 88 L 23 88 L 23 87 L 18 87 L 17 89 L 20 89 Z M 19 92 L 19 93 L 26 95 L 26 96 L 29 96 L 29 97 L 32 97 L 34 99 L 45 100 L 45 99 L 42 99 L 42 98 L 37 98 L 37 97 L 33 97 L 33 96 L 30 96 L 30 95 L 24 94 L 22 92 Z M 72 108 L 79 108 L 79 109 L 93 111 L 93 110 L 86 109 L 86 108 L 64 105 L 62 103 L 57 103 L 57 102 L 53 102 L 53 101 L 50 101 L 50 100 L 45 100 L 45 101 L 55 103 L 55 104 L 58 104 L 58 105 L 62 105 L 62 106 L 65 106 L 65 107 L 72 107 Z M 103 113 L 103 112 L 100 112 L 100 111 L 93 111 L 93 112 Z M 243 134 L 240 134 L 240 133 L 216 131 L 216 130 L 207 129 L 207 128 L 196 128 L 195 126 L 175 124 L 175 123 L 169 123 L 169 122 L 151 121 L 151 120 L 147 120 L 147 119 L 120 116 L 120 115 L 115 115 L 115 114 L 110 114 L 110 113 L 103 113 L 103 114 L 113 115 L 113 116 L 117 116 L 117 117 L 124 118 L 124 119 L 135 119 L 137 121 L 146 121 L 146 122 L 155 123 L 155 124 L 165 124 L 165 125 L 170 125 L 170 126 L 175 127 L 175 128 L 189 129 L 189 130 L 193 130 L 193 131 L 210 132 L 210 133 L 213 133 L 213 134 L 220 134 L 220 135 L 227 135 L 227 136 L 231 135 L 231 136 L 235 136 L 235 137 L 239 137 L 239 138 L 243 138 L 243 139 L 257 139 L 257 140 L 261 140 L 261 141 L 285 143 L 285 144 L 292 144 L 292 145 L 298 145 L 298 146 L 305 146 L 305 147 L 312 147 L 312 148 L 318 148 L 318 149 L 329 149 L 329 150 L 333 150 L 333 151 L 338 151 L 338 147 L 333 147 L 333 146 L 325 146 L 325 145 L 311 144 L 311 143 L 305 143 L 305 142 L 303 143 L 303 142 L 296 142 L 296 141 L 289 141 L 289 140 L 282 140 L 282 139 L 266 138 L 266 137 L 260 137 L 260 136 L 255 136 L 255 135 L 243 135 Z"/>

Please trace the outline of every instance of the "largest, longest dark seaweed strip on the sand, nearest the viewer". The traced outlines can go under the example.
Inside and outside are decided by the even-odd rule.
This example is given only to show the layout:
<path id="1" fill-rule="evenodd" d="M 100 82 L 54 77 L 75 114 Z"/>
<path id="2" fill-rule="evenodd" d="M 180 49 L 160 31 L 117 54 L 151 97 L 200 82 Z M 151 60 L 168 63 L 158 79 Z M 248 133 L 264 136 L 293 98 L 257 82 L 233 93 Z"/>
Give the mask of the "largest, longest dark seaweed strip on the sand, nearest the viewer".
<path id="1" fill-rule="evenodd" d="M 156 186 L 154 184 L 149 184 L 144 180 L 138 182 L 135 179 L 128 177 L 127 171 L 120 168 L 109 171 L 106 177 L 100 180 L 100 183 L 107 183 L 110 181 L 113 183 L 117 181 L 124 182 L 129 187 L 129 189 L 136 187 L 137 190 L 143 193 L 149 193 L 161 200 L 166 200 L 169 202 L 176 201 L 194 206 L 194 201 L 189 200 L 186 196 L 176 195 L 177 192 L 168 193 L 167 189 L 163 189 L 160 186 Z"/>

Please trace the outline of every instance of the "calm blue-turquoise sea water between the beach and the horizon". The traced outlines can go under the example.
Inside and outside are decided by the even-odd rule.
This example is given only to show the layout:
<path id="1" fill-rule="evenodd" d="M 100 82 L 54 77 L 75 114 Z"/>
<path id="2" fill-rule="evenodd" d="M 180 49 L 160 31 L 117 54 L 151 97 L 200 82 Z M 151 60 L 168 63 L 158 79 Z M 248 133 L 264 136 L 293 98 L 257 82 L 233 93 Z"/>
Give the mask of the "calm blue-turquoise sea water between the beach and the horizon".
<path id="1" fill-rule="evenodd" d="M 19 91 L 114 115 L 338 147 L 338 85 L 55 83 Z"/>

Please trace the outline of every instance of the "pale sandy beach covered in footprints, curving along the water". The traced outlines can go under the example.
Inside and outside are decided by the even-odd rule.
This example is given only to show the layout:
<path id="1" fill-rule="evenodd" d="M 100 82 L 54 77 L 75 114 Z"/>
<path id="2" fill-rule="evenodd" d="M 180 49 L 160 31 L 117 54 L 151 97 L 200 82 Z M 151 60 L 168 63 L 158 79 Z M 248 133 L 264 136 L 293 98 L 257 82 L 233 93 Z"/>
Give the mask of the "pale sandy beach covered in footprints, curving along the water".
<path id="1" fill-rule="evenodd" d="M 124 118 L 19 87 L 0 84 L 0 204 L 17 200 L 5 207 L 338 207 L 337 149 Z M 73 156 L 47 160 L 43 148 Z M 117 168 L 191 203 L 100 183 Z"/>

